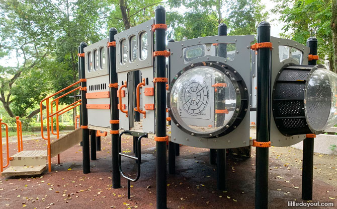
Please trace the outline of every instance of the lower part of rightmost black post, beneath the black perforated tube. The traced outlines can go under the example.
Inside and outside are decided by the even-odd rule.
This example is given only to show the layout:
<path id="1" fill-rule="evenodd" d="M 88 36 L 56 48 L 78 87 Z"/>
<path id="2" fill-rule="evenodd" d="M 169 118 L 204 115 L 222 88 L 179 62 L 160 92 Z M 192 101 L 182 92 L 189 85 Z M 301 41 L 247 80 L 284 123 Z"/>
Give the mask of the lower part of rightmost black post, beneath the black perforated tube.
<path id="1" fill-rule="evenodd" d="M 303 200 L 312 200 L 313 145 L 314 145 L 314 138 L 305 138 L 305 140 L 303 141 L 303 166 L 302 166 Z"/>

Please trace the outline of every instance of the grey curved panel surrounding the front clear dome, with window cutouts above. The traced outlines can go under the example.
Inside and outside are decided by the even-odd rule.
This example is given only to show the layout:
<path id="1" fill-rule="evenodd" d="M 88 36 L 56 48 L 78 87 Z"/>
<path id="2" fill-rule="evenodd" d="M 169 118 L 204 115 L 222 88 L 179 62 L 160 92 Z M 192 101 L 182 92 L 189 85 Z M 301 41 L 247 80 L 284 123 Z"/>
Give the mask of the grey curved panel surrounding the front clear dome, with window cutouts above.
<path id="1" fill-rule="evenodd" d="M 254 41 L 254 35 L 246 36 L 210 36 L 196 38 L 179 42 L 168 42 L 167 48 L 171 51 L 171 78 L 187 65 L 202 61 L 219 61 L 233 67 L 243 78 L 248 86 L 250 82 L 250 43 Z M 223 57 L 212 56 L 213 43 L 234 43 L 236 44 L 236 54 L 233 60 Z M 205 56 L 185 63 L 183 58 L 183 48 L 194 45 L 206 45 Z M 209 49 L 209 50 L 208 50 Z M 209 51 L 209 52 L 208 52 Z M 244 61 L 246 60 L 246 61 Z M 225 149 L 237 148 L 249 145 L 249 108 L 242 122 L 232 132 L 218 138 L 200 138 L 185 133 L 172 123 L 171 141 L 192 147 Z"/>

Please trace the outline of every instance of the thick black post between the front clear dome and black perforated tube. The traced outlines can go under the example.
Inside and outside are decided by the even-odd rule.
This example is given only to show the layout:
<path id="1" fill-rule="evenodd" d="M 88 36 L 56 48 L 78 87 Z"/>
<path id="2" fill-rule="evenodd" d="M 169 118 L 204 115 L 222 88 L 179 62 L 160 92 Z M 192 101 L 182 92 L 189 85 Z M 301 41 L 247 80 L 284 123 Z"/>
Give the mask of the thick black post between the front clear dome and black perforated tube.
<path id="1" fill-rule="evenodd" d="M 258 43 L 270 42 L 270 24 L 258 26 Z M 271 49 L 258 49 L 257 82 L 257 142 L 270 141 Z M 256 148 L 255 208 L 268 208 L 269 148 Z"/>

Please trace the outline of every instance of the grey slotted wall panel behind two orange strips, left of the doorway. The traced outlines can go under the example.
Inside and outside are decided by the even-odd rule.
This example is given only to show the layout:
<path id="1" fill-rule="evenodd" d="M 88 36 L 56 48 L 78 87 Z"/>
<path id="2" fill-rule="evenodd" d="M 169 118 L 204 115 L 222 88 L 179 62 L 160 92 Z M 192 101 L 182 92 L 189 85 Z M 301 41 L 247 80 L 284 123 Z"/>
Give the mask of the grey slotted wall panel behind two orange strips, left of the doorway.
<path id="1" fill-rule="evenodd" d="M 90 86 L 104 84 L 106 88 L 91 90 Z M 109 75 L 87 79 L 87 93 L 110 92 Z M 109 93 L 110 95 L 110 93 Z M 87 99 L 88 104 L 110 104 L 110 98 Z M 110 127 L 110 109 L 88 109 L 88 125 Z"/>

